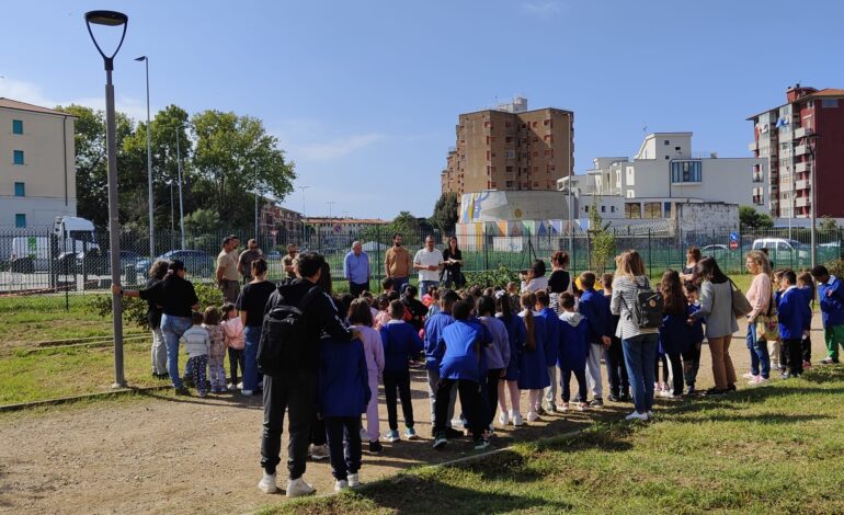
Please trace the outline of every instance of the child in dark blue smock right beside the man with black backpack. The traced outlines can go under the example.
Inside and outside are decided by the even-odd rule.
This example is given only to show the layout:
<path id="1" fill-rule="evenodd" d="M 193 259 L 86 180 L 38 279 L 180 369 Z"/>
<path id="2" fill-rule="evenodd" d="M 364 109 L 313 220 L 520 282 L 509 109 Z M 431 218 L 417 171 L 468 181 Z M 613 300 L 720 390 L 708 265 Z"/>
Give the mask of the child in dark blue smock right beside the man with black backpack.
<path id="1" fill-rule="evenodd" d="M 364 313 L 369 314 L 368 308 Z M 373 397 L 364 345 L 331 337 L 319 342 L 317 413 L 324 421 L 335 492 L 361 484 L 361 413 Z"/>

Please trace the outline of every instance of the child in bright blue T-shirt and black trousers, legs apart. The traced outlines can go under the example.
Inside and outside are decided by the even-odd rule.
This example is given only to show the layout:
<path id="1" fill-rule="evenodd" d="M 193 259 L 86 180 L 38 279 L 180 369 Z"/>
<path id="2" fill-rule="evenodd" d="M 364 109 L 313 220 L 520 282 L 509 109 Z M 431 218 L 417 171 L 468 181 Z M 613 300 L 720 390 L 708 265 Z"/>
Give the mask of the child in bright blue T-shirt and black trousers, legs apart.
<path id="1" fill-rule="evenodd" d="M 443 360 L 440 366 L 440 384 L 436 389 L 436 415 L 434 416 L 434 448 L 444 447 L 448 440 L 445 436 L 445 423 L 452 388 L 457 387 L 460 394 L 460 407 L 468 421 L 469 431 L 475 440 L 475 450 L 489 447 L 489 440 L 483 437 L 484 413 L 481 403 L 481 345 L 489 341 L 489 333 L 470 316 L 474 304 L 470 300 L 458 300 L 454 304 L 454 323 L 443 329 L 437 346 L 444 346 Z"/>

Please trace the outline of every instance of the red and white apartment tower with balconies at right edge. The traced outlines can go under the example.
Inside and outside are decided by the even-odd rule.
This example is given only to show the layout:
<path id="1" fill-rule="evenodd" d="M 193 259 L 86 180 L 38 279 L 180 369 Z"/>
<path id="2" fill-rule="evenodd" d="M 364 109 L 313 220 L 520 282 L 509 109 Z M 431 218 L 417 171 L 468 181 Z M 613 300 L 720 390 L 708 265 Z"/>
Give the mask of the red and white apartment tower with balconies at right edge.
<path id="1" fill-rule="evenodd" d="M 801 87 L 786 90 L 786 103 L 748 118 L 755 157 L 771 158 L 771 213 L 806 218 L 844 218 L 844 90 Z"/>

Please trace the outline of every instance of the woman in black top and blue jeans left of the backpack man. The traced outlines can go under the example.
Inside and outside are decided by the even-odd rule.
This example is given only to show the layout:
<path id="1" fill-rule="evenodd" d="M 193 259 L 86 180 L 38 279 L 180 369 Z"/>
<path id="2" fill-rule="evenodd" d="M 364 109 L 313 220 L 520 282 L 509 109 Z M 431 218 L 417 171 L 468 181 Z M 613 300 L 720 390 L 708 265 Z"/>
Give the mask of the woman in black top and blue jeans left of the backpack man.
<path id="1" fill-rule="evenodd" d="M 266 281 L 266 261 L 256 258 L 251 264 L 252 281 L 243 286 L 235 307 L 243 321 L 247 345 L 243 362 L 243 396 L 251 396 L 259 390 L 258 384 L 258 343 L 261 341 L 261 327 L 264 322 L 264 309 L 275 285 Z"/>

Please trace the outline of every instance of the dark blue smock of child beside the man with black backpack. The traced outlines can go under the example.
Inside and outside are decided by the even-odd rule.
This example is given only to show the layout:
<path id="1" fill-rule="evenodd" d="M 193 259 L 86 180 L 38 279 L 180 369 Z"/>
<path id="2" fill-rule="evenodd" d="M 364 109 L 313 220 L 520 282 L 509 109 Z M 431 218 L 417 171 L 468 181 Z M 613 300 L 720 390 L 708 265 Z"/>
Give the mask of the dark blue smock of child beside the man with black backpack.
<path id="1" fill-rule="evenodd" d="M 363 343 L 332 337 L 320 340 L 317 411 L 326 417 L 361 416 L 370 397 Z"/>

